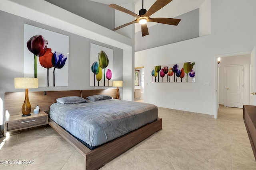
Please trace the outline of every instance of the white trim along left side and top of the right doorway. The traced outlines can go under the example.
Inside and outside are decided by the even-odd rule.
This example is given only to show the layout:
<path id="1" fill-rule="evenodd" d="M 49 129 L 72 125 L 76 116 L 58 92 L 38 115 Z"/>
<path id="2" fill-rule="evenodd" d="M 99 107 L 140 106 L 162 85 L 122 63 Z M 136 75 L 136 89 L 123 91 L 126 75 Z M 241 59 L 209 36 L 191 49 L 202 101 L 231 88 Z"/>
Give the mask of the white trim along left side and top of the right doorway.
<path id="1" fill-rule="evenodd" d="M 253 50 L 253 49 L 252 49 Z M 218 57 L 222 58 L 222 57 L 230 57 L 230 56 L 236 56 L 236 55 L 249 55 L 251 54 L 252 51 L 244 51 L 244 52 L 240 52 L 240 53 L 228 53 L 228 54 L 222 54 L 222 55 L 215 55 L 215 59 L 214 59 L 214 68 L 215 68 L 215 94 L 214 94 L 214 119 L 218 118 L 218 108 L 219 108 L 219 89 L 218 89 L 218 84 L 219 84 L 219 77 L 218 77 Z M 221 61 L 220 61 L 221 64 Z M 226 97 L 225 97 L 226 98 Z M 226 99 L 225 99 L 226 102 Z"/>

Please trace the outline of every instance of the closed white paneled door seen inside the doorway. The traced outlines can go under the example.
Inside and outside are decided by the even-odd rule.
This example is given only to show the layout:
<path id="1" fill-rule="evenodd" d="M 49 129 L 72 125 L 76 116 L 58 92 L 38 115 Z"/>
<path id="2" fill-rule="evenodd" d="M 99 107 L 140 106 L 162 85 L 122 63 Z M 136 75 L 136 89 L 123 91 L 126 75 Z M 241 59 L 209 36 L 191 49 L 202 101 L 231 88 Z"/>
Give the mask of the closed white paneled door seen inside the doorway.
<path id="1" fill-rule="evenodd" d="M 226 66 L 226 106 L 243 108 L 244 66 Z"/>

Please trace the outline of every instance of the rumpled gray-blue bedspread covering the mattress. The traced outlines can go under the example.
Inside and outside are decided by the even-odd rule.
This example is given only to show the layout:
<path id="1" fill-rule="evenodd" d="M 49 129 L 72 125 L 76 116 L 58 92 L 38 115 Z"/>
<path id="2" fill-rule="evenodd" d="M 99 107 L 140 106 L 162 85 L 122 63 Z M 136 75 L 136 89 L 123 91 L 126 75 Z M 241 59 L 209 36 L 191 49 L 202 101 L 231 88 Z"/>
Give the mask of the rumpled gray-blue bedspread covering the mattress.
<path id="1" fill-rule="evenodd" d="M 157 117 L 158 108 L 152 104 L 116 99 L 50 106 L 50 118 L 91 147 L 125 135 Z"/>

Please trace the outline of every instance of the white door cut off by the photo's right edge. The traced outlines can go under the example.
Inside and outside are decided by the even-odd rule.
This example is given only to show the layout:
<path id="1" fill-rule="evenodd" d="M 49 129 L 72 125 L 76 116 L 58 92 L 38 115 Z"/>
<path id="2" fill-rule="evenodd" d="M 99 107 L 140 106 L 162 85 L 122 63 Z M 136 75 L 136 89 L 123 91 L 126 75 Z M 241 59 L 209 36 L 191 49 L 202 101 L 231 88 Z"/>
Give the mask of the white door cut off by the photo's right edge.
<path id="1" fill-rule="evenodd" d="M 255 95 L 255 89 L 256 89 L 256 78 L 255 78 L 255 49 L 256 47 L 253 48 L 252 53 L 251 53 L 251 65 L 250 65 L 250 105 L 256 106 L 256 95 Z"/>

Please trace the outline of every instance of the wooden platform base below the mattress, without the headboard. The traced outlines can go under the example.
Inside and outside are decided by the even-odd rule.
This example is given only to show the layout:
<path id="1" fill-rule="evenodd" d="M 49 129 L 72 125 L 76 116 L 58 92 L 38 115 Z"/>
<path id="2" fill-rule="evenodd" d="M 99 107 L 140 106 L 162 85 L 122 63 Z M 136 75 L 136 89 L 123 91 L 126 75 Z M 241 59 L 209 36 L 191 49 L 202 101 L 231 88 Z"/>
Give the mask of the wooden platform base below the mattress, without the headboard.
<path id="1" fill-rule="evenodd" d="M 85 157 L 85 170 L 99 169 L 110 160 L 116 158 L 118 155 L 162 129 L 162 118 L 158 118 L 152 123 L 144 125 L 143 127 L 110 141 L 94 150 L 90 150 L 51 119 L 49 119 L 48 123 L 57 133 L 68 141 L 70 145 Z"/>

